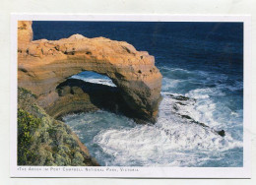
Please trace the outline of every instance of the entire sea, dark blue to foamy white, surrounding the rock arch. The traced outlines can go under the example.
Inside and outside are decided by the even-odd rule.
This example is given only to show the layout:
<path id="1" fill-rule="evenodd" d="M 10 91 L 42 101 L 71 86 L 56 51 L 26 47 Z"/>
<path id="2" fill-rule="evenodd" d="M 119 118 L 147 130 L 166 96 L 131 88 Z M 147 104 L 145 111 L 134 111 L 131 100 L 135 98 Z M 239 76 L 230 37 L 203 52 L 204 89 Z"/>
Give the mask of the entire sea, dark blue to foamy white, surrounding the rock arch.
<path id="1" fill-rule="evenodd" d="M 155 56 L 163 77 L 155 125 L 138 125 L 105 110 L 63 118 L 100 165 L 243 165 L 242 23 L 33 22 L 32 29 L 33 39 L 104 36 Z M 92 72 L 73 78 L 115 86 Z M 189 99 L 173 109 L 177 101 L 168 94 Z M 224 130 L 225 136 L 214 130 Z"/>

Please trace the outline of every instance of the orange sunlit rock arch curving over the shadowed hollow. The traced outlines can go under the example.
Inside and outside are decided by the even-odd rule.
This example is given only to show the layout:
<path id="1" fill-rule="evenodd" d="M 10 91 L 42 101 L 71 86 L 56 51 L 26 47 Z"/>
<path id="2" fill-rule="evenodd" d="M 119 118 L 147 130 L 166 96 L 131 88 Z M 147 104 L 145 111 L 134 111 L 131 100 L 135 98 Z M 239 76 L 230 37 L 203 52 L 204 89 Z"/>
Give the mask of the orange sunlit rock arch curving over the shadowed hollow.
<path id="1" fill-rule="evenodd" d="M 60 98 L 56 88 L 69 77 L 93 71 L 112 80 L 134 117 L 156 121 L 161 75 L 148 52 L 137 51 L 125 41 L 81 34 L 60 40 L 28 41 L 32 38 L 31 23 L 19 25 L 26 29 L 18 30 L 18 83 L 35 93 L 42 107 L 56 104 Z"/>

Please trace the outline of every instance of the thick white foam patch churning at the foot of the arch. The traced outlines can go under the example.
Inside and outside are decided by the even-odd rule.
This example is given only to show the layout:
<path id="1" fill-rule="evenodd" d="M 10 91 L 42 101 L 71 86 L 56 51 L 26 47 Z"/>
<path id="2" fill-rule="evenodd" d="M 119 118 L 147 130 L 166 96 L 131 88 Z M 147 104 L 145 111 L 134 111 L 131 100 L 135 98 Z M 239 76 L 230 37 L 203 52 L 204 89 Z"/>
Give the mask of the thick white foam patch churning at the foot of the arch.
<path id="1" fill-rule="evenodd" d="M 242 147 L 229 133 L 223 138 L 210 128 L 189 123 L 171 113 L 172 103 L 170 97 L 163 97 L 156 125 L 99 132 L 94 143 L 104 153 L 114 156 L 108 165 L 133 165 L 135 162 L 145 166 L 195 166 L 213 154 Z"/>

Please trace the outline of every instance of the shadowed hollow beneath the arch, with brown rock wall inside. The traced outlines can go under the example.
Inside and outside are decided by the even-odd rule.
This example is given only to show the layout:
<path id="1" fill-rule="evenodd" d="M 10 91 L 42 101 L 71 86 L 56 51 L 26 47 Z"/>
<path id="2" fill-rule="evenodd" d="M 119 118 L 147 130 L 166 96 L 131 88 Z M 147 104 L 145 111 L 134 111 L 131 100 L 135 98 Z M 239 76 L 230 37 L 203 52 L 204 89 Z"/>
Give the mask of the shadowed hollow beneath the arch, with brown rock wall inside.
<path id="1" fill-rule="evenodd" d="M 80 74 L 83 76 L 96 74 L 98 79 L 81 80 L 83 76 Z M 123 99 L 122 92 L 111 82 L 110 78 L 92 71 L 84 71 L 80 74 L 68 78 L 56 87 L 59 97 L 47 107 L 46 111 L 49 115 L 61 119 L 66 114 L 102 109 L 133 118 L 137 123 L 144 123 L 136 118 L 134 111 Z"/>

